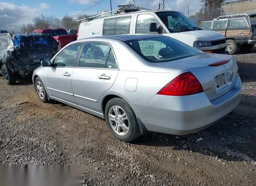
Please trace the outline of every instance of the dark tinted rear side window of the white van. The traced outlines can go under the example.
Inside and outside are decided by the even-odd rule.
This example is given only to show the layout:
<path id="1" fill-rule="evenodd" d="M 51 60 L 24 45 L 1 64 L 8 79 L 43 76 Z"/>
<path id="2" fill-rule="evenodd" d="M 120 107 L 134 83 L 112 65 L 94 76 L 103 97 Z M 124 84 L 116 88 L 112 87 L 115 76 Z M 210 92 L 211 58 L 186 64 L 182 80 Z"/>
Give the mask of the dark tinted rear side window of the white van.
<path id="1" fill-rule="evenodd" d="M 104 19 L 102 35 L 130 34 L 132 16 Z"/>

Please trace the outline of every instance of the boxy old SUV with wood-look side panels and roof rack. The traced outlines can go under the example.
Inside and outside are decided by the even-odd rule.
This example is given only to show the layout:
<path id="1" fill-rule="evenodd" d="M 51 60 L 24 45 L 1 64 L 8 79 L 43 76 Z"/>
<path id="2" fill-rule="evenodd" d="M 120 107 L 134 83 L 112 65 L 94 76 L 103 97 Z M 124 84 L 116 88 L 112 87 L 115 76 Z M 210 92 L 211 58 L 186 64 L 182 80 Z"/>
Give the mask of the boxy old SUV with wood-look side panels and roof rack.
<path id="1" fill-rule="evenodd" d="M 256 14 L 219 16 L 213 21 L 202 22 L 199 27 L 223 34 L 229 54 L 237 53 L 239 48 L 250 51 L 256 44 Z"/>

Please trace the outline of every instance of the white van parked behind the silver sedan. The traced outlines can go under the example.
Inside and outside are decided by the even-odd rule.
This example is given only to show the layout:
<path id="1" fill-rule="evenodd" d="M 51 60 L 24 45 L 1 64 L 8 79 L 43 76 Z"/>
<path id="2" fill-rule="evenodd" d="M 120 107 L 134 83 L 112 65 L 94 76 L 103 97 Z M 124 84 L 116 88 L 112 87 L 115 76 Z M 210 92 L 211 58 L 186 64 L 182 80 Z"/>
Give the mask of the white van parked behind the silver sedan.
<path id="1" fill-rule="evenodd" d="M 202 30 L 181 12 L 170 10 L 140 10 L 86 19 L 79 26 L 78 40 L 116 34 L 166 35 L 208 53 L 225 53 L 226 48 L 222 34 Z"/>

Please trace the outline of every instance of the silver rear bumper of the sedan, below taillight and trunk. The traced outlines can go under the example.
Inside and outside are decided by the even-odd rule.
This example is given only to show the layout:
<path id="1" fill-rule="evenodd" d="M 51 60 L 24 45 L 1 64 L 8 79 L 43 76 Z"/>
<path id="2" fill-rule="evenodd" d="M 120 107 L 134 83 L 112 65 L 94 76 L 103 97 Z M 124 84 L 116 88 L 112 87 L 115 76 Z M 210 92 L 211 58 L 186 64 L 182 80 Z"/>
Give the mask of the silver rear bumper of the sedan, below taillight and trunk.
<path id="1" fill-rule="evenodd" d="M 186 135 L 209 127 L 235 109 L 241 100 L 241 85 L 237 76 L 233 89 L 213 101 L 205 93 L 155 95 L 147 105 L 130 105 L 148 131 Z"/>

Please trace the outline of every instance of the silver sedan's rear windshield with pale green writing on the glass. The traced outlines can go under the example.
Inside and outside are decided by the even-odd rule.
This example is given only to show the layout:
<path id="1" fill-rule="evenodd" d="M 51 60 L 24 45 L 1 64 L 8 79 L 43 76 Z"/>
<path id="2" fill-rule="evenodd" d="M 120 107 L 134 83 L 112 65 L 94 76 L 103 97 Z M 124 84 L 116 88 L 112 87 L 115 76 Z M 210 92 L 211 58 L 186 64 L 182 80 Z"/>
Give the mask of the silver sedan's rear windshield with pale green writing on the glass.
<path id="1" fill-rule="evenodd" d="M 173 61 L 202 53 L 178 40 L 164 36 L 129 40 L 126 44 L 152 63 Z"/>

